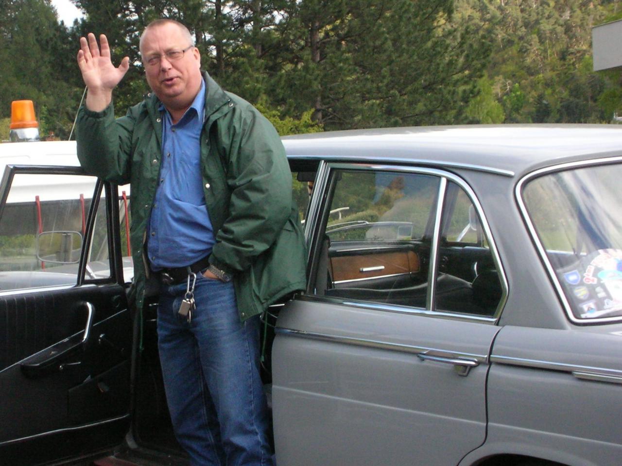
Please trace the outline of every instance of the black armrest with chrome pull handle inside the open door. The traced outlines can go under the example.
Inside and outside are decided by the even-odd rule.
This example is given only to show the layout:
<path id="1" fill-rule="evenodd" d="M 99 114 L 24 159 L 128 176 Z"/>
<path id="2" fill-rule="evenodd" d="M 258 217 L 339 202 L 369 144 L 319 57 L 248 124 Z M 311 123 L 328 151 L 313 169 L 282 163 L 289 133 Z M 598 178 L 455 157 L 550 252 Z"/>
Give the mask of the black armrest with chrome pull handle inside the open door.
<path id="1" fill-rule="evenodd" d="M 20 367 L 22 373 L 24 373 L 26 377 L 42 377 L 59 370 L 63 370 L 63 368 L 67 366 L 80 365 L 80 361 L 72 361 L 68 363 L 65 363 L 65 361 L 75 357 L 80 350 L 85 349 L 86 344 L 88 344 L 90 339 L 91 331 L 93 330 L 93 322 L 95 321 L 95 306 L 87 301 L 82 301 L 77 304 L 78 308 L 82 306 L 86 308 L 86 324 L 81 340 L 77 343 L 73 343 L 72 339 L 67 339 L 58 345 L 54 345 L 52 350 L 47 354 L 36 357 L 29 362 L 22 362 Z M 75 339 L 73 339 L 73 341 L 75 341 Z"/>

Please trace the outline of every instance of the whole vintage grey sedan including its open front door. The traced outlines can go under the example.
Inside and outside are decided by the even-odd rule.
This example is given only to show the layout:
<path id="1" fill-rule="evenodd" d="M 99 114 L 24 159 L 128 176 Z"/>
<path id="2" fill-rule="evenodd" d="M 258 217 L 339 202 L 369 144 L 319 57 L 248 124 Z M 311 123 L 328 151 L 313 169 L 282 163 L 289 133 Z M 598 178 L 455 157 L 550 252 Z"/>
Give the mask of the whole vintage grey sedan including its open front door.
<path id="1" fill-rule="evenodd" d="M 262 326 L 279 466 L 622 464 L 622 127 L 283 142 L 309 285 Z M 45 144 L 10 146 L 55 160 L 44 152 L 60 146 Z M 62 148 L 77 165 L 75 145 Z M 187 464 L 157 302 L 134 311 L 126 298 L 129 191 L 83 188 L 78 167 L 12 163 L 0 464 Z M 52 176 L 72 193 L 43 188 Z"/>

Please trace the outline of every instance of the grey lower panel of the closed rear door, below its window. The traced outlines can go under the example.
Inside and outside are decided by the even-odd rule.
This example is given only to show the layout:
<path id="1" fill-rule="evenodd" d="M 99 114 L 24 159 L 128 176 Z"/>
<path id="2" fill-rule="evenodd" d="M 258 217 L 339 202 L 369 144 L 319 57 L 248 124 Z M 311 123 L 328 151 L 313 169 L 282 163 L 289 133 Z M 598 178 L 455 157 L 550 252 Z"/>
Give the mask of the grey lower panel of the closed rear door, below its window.
<path id="1" fill-rule="evenodd" d="M 498 327 L 300 300 L 281 310 L 278 326 L 279 464 L 457 464 L 483 443 L 487 355 Z M 461 377 L 422 355 L 477 365 Z M 442 451 L 426 447 L 439 437 L 452 441 Z"/>

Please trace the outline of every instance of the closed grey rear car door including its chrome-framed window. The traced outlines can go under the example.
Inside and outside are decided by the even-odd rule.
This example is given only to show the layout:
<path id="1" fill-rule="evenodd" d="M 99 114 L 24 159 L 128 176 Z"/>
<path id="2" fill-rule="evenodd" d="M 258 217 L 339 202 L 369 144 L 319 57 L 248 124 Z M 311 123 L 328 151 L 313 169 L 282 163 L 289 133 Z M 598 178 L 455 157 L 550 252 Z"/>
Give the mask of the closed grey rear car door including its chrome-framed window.
<path id="1" fill-rule="evenodd" d="M 282 308 L 272 347 L 279 465 L 457 464 L 485 440 L 506 295 L 481 208 L 445 171 L 335 163 L 318 173 L 309 289 Z M 459 192 L 494 265 L 472 281 L 452 274 L 472 257 L 439 267 L 453 221 L 443 211 Z"/>

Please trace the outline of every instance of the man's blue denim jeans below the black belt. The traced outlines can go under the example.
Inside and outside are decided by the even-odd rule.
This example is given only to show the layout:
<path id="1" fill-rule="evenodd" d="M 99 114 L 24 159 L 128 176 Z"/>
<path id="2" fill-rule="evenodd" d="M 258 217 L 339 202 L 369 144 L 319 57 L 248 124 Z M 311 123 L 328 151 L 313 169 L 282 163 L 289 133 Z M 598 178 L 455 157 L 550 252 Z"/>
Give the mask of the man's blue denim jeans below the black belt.
<path id="1" fill-rule="evenodd" d="M 192 466 L 272 465 L 259 377 L 259 316 L 240 322 L 232 283 L 197 273 L 192 320 L 186 283 L 160 286 L 157 334 L 175 437 Z"/>

